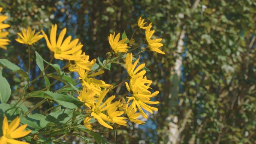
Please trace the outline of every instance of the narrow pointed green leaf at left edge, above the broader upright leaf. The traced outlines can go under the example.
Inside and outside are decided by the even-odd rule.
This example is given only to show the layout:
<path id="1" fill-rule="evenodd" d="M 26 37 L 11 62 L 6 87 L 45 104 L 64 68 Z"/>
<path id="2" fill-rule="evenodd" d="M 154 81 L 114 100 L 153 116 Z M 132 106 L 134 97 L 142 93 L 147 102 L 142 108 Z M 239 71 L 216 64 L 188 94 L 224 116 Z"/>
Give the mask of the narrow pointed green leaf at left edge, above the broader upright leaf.
<path id="1" fill-rule="evenodd" d="M 28 74 L 25 71 L 21 70 L 21 68 L 19 68 L 17 65 L 13 64 L 7 59 L 0 59 L 0 66 L 4 68 L 8 68 L 11 71 L 14 71 L 20 74 L 21 76 L 25 77 L 26 79 L 28 79 Z"/>

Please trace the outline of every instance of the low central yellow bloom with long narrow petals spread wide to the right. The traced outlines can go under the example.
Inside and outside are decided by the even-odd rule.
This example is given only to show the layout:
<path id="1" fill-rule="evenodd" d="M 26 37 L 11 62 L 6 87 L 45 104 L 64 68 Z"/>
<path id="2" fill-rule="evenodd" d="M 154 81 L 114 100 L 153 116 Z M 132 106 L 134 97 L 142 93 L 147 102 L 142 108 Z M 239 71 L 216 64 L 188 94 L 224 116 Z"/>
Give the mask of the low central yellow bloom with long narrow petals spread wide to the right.
<path id="1" fill-rule="evenodd" d="M 105 126 L 106 128 L 109 129 L 113 129 L 112 126 L 108 125 L 106 122 L 104 122 L 104 120 L 111 122 L 112 120 L 108 118 L 108 116 L 106 114 L 104 114 L 103 112 L 108 110 L 110 107 L 113 107 L 113 104 L 107 105 L 107 103 L 110 101 L 112 101 L 115 96 L 110 96 L 103 104 L 101 104 L 102 100 L 104 99 L 104 97 L 106 96 L 107 92 L 109 92 L 109 90 L 104 89 L 101 94 L 99 95 L 97 102 L 92 106 L 91 110 L 91 116 L 94 117 L 94 119 L 97 119 L 97 121 Z M 107 105 L 107 106 L 106 106 Z"/>

